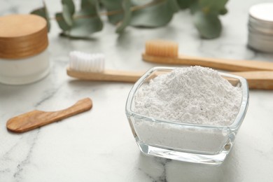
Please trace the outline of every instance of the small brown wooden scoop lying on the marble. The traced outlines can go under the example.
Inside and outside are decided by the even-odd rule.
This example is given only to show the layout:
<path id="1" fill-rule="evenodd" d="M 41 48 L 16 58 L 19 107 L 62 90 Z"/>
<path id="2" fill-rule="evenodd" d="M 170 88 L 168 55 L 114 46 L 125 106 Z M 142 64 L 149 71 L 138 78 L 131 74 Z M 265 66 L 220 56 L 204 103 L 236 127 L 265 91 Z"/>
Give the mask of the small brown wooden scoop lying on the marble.
<path id="1" fill-rule="evenodd" d="M 74 116 L 78 113 L 89 111 L 91 108 L 92 100 L 85 98 L 79 100 L 73 106 L 61 111 L 45 112 L 34 110 L 28 113 L 23 113 L 19 116 L 15 116 L 14 118 L 10 118 L 6 123 L 6 127 L 11 132 L 27 132 L 37 127 L 48 125 L 64 118 Z"/>

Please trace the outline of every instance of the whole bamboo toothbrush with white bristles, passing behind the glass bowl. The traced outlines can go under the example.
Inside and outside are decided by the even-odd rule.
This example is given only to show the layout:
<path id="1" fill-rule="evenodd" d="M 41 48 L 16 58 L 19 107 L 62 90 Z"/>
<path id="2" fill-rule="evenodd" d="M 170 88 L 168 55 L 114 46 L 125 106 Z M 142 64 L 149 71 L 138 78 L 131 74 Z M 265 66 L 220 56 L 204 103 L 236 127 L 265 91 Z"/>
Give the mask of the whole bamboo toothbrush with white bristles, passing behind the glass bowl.
<path id="1" fill-rule="evenodd" d="M 88 62 L 88 63 L 87 63 Z M 67 75 L 81 80 L 135 83 L 145 72 L 104 70 L 104 56 L 93 57 L 83 52 L 71 52 Z M 98 69 L 99 68 L 99 69 Z M 248 80 L 251 89 L 273 90 L 273 71 L 230 72 Z"/>

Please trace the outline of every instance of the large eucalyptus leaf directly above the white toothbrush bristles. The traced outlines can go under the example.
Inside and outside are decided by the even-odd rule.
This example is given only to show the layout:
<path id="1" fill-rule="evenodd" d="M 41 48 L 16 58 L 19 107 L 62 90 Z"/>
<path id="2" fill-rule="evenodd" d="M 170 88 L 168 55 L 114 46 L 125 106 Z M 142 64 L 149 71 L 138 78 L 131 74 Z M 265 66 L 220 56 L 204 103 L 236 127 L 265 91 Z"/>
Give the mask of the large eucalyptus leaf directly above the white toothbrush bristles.
<path id="1" fill-rule="evenodd" d="M 97 0 L 82 0 L 81 10 L 74 15 L 73 25 L 66 36 L 85 38 L 90 34 L 101 31 L 103 24 L 98 14 L 99 2 Z"/>

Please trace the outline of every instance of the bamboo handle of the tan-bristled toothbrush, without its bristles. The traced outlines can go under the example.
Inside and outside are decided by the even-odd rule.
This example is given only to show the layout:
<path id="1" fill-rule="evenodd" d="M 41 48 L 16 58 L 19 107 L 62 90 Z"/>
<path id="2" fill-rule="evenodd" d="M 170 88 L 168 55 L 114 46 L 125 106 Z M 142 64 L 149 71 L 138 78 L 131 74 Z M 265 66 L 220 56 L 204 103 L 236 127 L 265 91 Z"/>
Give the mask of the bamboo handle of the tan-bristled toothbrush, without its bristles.
<path id="1" fill-rule="evenodd" d="M 183 65 L 199 65 L 211 67 L 214 69 L 222 69 L 227 71 L 269 71 L 273 70 L 273 62 L 262 62 L 253 60 L 232 60 L 232 59 L 216 59 L 207 57 L 190 57 L 179 55 L 179 57 L 158 57 L 143 54 L 142 58 L 147 62 L 160 64 L 183 64 Z"/>

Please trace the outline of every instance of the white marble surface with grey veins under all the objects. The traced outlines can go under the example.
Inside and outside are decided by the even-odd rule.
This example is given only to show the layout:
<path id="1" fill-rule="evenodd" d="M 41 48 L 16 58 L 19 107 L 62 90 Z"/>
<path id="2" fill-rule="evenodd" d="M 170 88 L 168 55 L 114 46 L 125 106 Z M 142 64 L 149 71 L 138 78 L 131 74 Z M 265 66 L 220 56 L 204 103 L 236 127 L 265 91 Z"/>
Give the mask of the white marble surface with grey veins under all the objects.
<path id="1" fill-rule="evenodd" d="M 61 8 L 60 1 L 45 2 L 50 15 Z M 52 20 L 50 74 L 29 85 L 0 84 L 0 181 L 273 181 L 272 91 L 251 90 L 248 113 L 223 165 L 197 165 L 141 154 L 125 116 L 132 84 L 74 80 L 65 71 L 71 50 L 104 52 L 110 69 L 147 70 L 155 64 L 143 62 L 141 52 L 151 38 L 177 41 L 186 55 L 272 61 L 272 54 L 246 47 L 248 8 L 258 2 L 229 1 L 223 33 L 214 40 L 199 38 L 187 10 L 167 27 L 130 27 L 120 36 L 106 23 L 88 40 L 60 37 Z M 0 0 L 0 15 L 38 6 L 41 1 Z M 10 117 L 64 109 L 83 97 L 92 98 L 91 111 L 23 134 L 6 130 Z"/>

